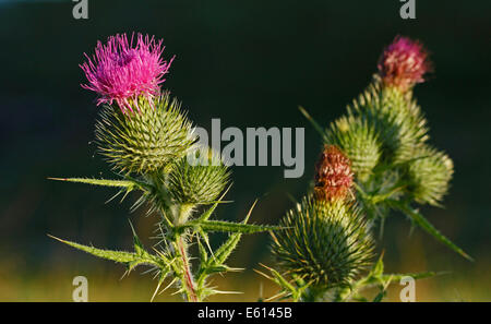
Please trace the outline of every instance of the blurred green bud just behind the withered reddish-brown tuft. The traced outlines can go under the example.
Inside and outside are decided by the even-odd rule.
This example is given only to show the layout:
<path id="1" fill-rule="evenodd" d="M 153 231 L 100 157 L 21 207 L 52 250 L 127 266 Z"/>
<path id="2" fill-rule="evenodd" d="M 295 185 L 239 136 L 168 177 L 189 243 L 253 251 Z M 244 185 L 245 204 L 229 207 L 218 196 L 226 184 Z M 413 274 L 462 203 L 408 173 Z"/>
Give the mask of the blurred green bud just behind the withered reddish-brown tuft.
<path id="1" fill-rule="evenodd" d="M 332 122 L 324 142 L 338 146 L 351 160 L 351 169 L 359 179 L 366 179 L 379 163 L 381 144 L 373 128 L 354 116 Z"/>

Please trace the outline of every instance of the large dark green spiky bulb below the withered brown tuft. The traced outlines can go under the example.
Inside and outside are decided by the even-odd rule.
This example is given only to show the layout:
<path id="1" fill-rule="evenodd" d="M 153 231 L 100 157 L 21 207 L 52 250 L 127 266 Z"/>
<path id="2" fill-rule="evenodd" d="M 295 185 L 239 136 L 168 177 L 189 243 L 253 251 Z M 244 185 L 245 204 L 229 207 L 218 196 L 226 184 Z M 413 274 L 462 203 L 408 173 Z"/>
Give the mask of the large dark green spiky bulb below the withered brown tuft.
<path id="1" fill-rule="evenodd" d="M 273 254 L 290 275 L 316 287 L 348 284 L 370 265 L 373 240 L 358 207 L 306 197 L 282 219 Z"/>

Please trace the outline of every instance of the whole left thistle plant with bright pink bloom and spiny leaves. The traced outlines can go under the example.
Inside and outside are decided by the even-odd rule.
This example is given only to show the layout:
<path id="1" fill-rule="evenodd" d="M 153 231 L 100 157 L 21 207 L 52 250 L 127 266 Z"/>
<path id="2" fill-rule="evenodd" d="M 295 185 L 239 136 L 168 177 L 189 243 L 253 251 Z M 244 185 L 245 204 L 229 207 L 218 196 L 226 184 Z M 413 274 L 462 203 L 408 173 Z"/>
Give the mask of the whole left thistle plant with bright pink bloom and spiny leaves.
<path id="1" fill-rule="evenodd" d="M 215 208 L 230 185 L 230 171 L 218 153 L 200 147 L 193 125 L 180 103 L 160 88 L 173 57 L 166 61 L 161 40 L 141 34 L 123 35 L 97 44 L 95 55 L 81 65 L 88 83 L 82 87 L 98 94 L 104 105 L 96 121 L 98 152 L 118 179 L 51 178 L 93 185 L 113 187 L 123 199 L 140 194 L 131 211 L 145 205 L 156 218 L 155 244 L 146 249 L 130 223 L 134 251 L 111 251 L 55 238 L 95 256 L 122 263 L 127 273 L 148 267 L 157 279 L 155 298 L 175 287 L 188 301 L 226 291 L 211 286 L 209 276 L 240 271 L 226 264 L 243 233 L 274 230 L 276 227 L 214 220 Z M 117 194 L 117 195 L 118 195 Z M 228 232 L 215 250 L 209 233 Z M 197 245 L 199 256 L 190 253 Z M 195 262 L 199 260 L 199 262 Z"/>

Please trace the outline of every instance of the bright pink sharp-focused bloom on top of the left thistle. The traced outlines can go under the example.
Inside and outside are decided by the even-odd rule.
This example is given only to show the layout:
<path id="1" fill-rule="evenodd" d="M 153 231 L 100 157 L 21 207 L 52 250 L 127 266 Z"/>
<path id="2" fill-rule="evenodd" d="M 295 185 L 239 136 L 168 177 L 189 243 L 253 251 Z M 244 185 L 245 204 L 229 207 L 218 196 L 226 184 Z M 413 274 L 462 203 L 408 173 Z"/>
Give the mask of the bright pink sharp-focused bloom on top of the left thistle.
<path id="1" fill-rule="evenodd" d="M 161 59 L 163 40 L 137 34 L 136 45 L 133 37 L 128 40 L 125 34 L 110 36 L 106 45 L 97 41 L 92 59 L 85 53 L 87 61 L 80 67 L 88 83 L 83 88 L 99 95 L 97 106 L 116 101 L 123 113 L 137 108 L 137 98 L 143 96 L 152 103 L 154 96 L 160 93 L 159 85 L 165 82 L 164 75 L 173 61 Z"/>

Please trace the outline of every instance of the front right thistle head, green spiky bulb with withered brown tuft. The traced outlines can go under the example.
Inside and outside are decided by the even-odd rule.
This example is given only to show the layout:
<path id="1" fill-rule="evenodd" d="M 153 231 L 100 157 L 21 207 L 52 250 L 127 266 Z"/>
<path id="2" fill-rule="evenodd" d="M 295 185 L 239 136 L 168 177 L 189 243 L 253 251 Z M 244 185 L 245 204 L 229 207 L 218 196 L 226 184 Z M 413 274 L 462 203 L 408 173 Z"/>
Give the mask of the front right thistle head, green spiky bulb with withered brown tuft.
<path id="1" fill-rule="evenodd" d="M 292 295 L 296 300 L 315 301 L 326 290 L 346 287 L 370 264 L 374 248 L 368 224 L 349 196 L 349 159 L 336 146 L 326 146 L 315 170 L 313 193 L 282 219 L 285 230 L 273 233 L 275 259 L 300 287 Z"/>

